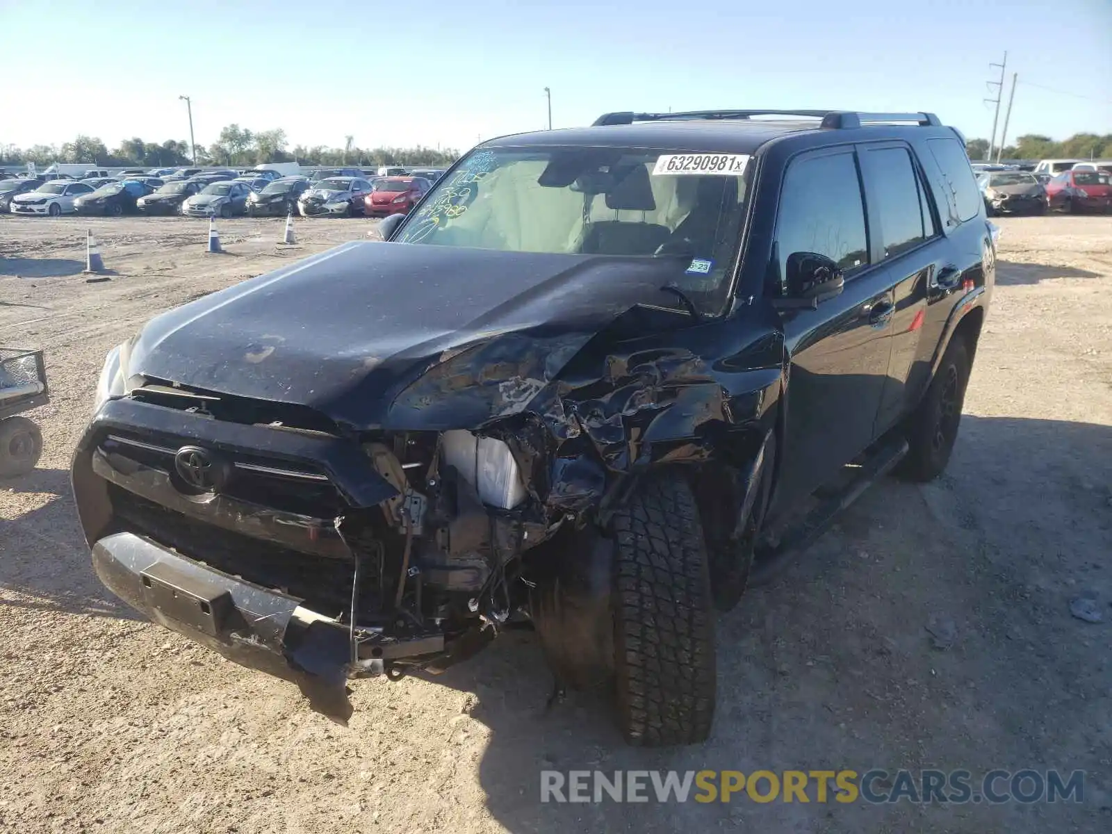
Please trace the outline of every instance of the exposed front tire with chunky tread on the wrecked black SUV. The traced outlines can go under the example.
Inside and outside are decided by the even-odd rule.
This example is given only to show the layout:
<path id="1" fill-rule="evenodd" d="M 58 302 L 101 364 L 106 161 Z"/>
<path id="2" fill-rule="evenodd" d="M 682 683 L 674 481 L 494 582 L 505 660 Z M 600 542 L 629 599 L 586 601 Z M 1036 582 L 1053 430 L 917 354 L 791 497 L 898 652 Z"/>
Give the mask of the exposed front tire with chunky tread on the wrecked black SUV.
<path id="1" fill-rule="evenodd" d="M 674 470 L 614 514 L 618 723 L 636 746 L 696 744 L 715 703 L 714 615 L 695 497 Z"/>

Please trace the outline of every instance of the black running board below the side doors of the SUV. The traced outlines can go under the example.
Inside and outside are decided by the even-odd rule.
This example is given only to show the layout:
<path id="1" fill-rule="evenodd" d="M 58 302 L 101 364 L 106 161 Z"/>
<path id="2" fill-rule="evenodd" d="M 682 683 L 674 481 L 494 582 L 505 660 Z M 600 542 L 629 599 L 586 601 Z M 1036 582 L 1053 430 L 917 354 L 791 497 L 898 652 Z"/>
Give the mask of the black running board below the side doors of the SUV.
<path id="1" fill-rule="evenodd" d="M 751 586 L 766 585 L 787 566 L 788 557 L 811 547 L 830 529 L 838 515 L 853 504 L 874 483 L 887 475 L 907 454 L 907 441 L 902 437 L 880 446 L 861 467 L 861 471 L 845 488 L 830 493 L 817 493 L 822 503 L 807 514 L 797 526 L 792 527 L 771 549 L 759 552 L 749 572 Z"/>

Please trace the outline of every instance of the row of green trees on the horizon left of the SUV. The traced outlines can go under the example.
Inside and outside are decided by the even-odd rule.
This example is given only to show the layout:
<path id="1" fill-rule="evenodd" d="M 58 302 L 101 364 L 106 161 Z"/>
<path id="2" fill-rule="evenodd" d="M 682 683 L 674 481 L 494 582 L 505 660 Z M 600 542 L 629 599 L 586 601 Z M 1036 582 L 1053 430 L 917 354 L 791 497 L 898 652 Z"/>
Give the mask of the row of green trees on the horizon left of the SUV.
<path id="1" fill-rule="evenodd" d="M 324 145 L 289 149 L 286 131 L 252 131 L 239 125 L 228 125 L 215 142 L 207 148 L 197 146 L 197 165 L 226 165 L 246 167 L 262 162 L 299 162 L 301 165 L 428 165 L 447 166 L 459 157 L 453 148 L 359 148 L 354 137 L 345 137 L 342 148 Z M 97 137 L 79 135 L 73 141 L 57 145 L 34 145 L 17 148 L 0 145 L 0 165 L 34 162 L 42 167 L 51 162 L 88 162 L 90 167 L 143 166 L 163 168 L 185 166 L 193 161 L 189 142 L 167 139 L 165 142 L 145 142 L 139 137 L 126 139 L 119 147 L 109 148 Z"/>

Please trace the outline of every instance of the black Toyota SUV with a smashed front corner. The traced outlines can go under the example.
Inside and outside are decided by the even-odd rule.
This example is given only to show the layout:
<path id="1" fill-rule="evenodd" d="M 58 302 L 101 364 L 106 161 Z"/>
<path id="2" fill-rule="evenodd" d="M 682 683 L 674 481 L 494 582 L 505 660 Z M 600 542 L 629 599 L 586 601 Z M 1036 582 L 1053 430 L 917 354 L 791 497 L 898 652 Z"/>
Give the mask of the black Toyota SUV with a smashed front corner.
<path id="1" fill-rule="evenodd" d="M 707 736 L 751 572 L 943 470 L 994 281 L 930 113 L 608 113 L 480 145 L 381 231 L 111 351 L 96 570 L 340 717 L 532 624 L 634 744 Z"/>

